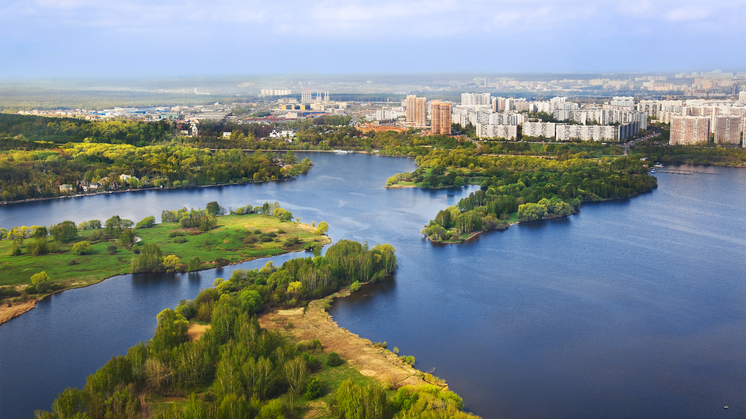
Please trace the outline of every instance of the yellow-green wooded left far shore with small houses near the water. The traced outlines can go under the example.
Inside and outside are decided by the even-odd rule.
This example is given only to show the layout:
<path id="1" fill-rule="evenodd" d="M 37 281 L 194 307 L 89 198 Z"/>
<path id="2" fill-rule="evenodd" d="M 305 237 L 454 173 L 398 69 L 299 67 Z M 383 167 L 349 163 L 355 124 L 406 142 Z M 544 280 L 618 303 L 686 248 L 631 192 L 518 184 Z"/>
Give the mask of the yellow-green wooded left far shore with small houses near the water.
<path id="1" fill-rule="evenodd" d="M 298 163 L 293 151 L 283 156 L 257 151 L 210 151 L 184 145 L 111 145 L 68 143 L 61 148 L 0 151 L 0 188 L 4 201 L 65 195 L 55 183 L 80 192 L 79 181 L 101 189 L 200 186 L 284 179 L 305 173 L 309 159 Z"/>

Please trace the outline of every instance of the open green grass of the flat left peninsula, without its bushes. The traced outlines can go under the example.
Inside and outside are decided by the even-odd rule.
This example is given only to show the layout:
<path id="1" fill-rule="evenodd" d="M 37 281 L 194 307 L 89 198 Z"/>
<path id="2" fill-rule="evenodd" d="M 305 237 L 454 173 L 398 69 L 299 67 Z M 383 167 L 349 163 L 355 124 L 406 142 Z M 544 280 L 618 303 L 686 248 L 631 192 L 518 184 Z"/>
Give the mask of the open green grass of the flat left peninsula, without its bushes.
<path id="1" fill-rule="evenodd" d="M 278 233 L 272 242 L 245 244 L 243 240 L 254 230 L 260 230 L 262 233 L 278 233 L 278 230 L 284 230 L 285 233 Z M 242 262 L 301 251 L 308 243 L 325 245 L 330 242 L 327 236 L 316 236 L 314 230 L 315 228 L 309 224 L 281 222 L 279 218 L 271 215 L 248 214 L 218 217 L 218 226 L 204 232 L 196 228 L 183 229 L 177 223 L 162 223 L 135 230 L 135 236 L 142 238 L 137 245 L 155 243 L 160 246 L 163 256 L 174 254 L 185 264 L 193 256 L 199 256 L 202 261 L 201 268 L 213 268 L 213 262 L 219 257 L 228 262 Z M 60 283 L 65 289 L 87 286 L 107 277 L 131 272 L 131 259 L 137 257 L 137 254 L 119 244 L 119 240 L 92 242 L 93 252 L 90 254 L 78 256 L 71 252 L 75 242 L 86 240 L 88 236 L 99 231 L 101 230 L 78 231 L 78 238 L 61 244 L 57 253 L 40 256 L 27 253 L 25 245 L 22 246 L 20 256 L 11 256 L 13 242 L 0 241 L 0 286 L 16 286 L 20 290 L 31 285 L 31 275 L 41 271 L 46 271 L 52 282 Z M 172 231 L 184 234 L 186 242 L 174 242 L 174 239 L 169 238 Z M 289 248 L 283 247 L 283 240 L 290 236 L 298 236 L 301 242 Z M 279 242 L 276 241 L 278 239 Z M 26 242 L 31 240 L 33 239 L 27 239 Z M 113 254 L 109 254 L 107 246 L 112 243 L 117 248 Z M 75 265 L 70 264 L 73 259 L 77 262 Z"/>

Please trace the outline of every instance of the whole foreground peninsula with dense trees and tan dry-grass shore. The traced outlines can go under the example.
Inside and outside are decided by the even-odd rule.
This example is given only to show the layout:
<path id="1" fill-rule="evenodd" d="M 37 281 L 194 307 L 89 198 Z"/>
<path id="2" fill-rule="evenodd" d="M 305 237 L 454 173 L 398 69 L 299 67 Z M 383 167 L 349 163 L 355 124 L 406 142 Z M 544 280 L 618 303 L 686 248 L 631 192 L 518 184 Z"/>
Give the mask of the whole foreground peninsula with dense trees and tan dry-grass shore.
<path id="1" fill-rule="evenodd" d="M 233 271 L 163 309 L 153 338 L 113 356 L 82 390 L 66 388 L 35 417 L 478 418 L 442 379 L 416 371 L 413 356 L 328 320 L 332 297 L 396 267 L 391 245 L 340 240 L 325 256 Z M 350 359 L 356 353 L 370 359 L 360 364 Z"/>

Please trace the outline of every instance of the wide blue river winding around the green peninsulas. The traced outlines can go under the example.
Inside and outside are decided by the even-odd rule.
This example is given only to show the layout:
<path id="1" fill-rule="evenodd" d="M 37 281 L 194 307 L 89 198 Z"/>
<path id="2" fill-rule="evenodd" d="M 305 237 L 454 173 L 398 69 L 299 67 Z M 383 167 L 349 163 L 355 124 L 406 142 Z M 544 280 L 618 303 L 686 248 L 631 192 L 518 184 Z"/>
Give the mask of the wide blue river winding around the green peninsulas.
<path id="1" fill-rule="evenodd" d="M 745 417 L 746 169 L 658 174 L 659 187 L 637 198 L 434 245 L 422 225 L 475 186 L 389 190 L 386 178 L 413 160 L 298 155 L 316 166 L 295 180 L 8 205 L 0 226 L 279 201 L 304 222 L 327 221 L 334 241 L 395 246 L 395 276 L 337 300 L 333 318 L 435 368 L 477 415 Z M 63 388 L 82 388 L 110 356 L 151 338 L 161 309 L 264 262 L 122 275 L 37 303 L 0 326 L 0 417 L 48 410 Z"/>

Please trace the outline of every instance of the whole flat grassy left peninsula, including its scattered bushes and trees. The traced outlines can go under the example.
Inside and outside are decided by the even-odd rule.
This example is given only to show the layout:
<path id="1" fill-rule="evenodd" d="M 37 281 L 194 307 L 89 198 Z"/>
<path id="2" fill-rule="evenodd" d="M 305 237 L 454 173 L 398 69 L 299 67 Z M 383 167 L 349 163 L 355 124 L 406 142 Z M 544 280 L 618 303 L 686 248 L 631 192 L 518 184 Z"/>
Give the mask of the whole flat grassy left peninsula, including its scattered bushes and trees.
<path id="1" fill-rule="evenodd" d="M 160 224 L 152 215 L 137 224 L 115 215 L 103 223 L 2 228 L 1 310 L 119 274 L 198 271 L 288 252 L 319 253 L 331 242 L 327 223 L 290 221 L 292 213 L 278 203 L 223 213 L 211 202 L 207 209 L 164 210 Z"/>

